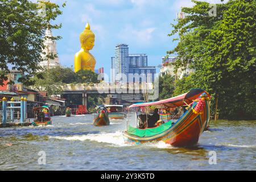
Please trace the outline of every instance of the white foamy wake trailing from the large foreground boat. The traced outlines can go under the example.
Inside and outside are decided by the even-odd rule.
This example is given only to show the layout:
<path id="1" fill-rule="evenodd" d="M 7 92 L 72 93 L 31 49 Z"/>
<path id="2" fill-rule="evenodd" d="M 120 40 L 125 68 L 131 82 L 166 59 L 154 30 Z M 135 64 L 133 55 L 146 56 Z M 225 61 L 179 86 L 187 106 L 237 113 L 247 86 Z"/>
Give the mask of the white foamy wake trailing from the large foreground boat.
<path id="1" fill-rule="evenodd" d="M 175 148 L 170 144 L 164 143 L 163 141 L 159 142 L 151 142 L 151 143 L 143 143 L 143 144 L 135 144 L 126 142 L 123 138 L 122 131 L 116 131 L 115 133 L 101 133 L 101 134 L 88 134 L 88 135 L 73 135 L 69 137 L 49 137 L 55 139 L 63 139 L 63 140 L 90 140 L 99 143 L 109 143 L 114 147 L 127 147 L 127 146 L 137 146 L 137 147 L 149 147 L 149 148 L 167 148 L 172 149 Z"/>

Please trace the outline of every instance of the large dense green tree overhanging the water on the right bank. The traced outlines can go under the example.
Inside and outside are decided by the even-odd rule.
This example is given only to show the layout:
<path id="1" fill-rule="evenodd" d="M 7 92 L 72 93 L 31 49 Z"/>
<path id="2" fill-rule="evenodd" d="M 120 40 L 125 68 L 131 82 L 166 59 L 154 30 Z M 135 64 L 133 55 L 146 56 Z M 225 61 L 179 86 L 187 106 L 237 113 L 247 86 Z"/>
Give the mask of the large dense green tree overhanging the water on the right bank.
<path id="1" fill-rule="evenodd" d="M 209 3 L 183 7 L 184 19 L 173 24 L 170 36 L 179 35 L 175 67 L 195 73 L 175 83 L 175 94 L 203 88 L 212 96 L 213 111 L 226 119 L 256 118 L 255 5 L 253 0 L 217 4 L 209 16 Z"/>

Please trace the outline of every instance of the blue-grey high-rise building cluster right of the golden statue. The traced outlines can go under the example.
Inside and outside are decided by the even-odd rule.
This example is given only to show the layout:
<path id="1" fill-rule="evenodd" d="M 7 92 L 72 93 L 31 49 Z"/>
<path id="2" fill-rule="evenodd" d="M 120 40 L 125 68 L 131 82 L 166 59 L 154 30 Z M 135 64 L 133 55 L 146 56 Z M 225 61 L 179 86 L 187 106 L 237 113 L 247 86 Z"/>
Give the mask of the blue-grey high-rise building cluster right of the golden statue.
<path id="1" fill-rule="evenodd" d="M 118 44 L 115 46 L 115 57 L 111 57 L 110 73 L 111 82 L 154 82 L 156 68 L 148 67 L 145 53 L 129 54 L 127 44 Z M 127 80 L 122 80 L 121 74 Z"/>

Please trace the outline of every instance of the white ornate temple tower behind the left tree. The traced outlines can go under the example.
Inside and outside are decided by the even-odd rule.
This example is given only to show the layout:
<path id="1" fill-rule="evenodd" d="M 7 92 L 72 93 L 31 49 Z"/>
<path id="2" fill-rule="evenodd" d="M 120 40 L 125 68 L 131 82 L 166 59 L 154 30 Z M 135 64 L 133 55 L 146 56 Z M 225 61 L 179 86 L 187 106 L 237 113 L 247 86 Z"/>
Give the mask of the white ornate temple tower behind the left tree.
<path id="1" fill-rule="evenodd" d="M 46 30 L 46 36 L 47 37 L 52 37 L 52 31 L 47 29 Z M 43 50 L 43 52 L 46 53 L 46 55 L 49 55 L 53 53 L 54 55 L 57 54 L 57 49 L 56 49 L 56 42 L 55 40 L 51 40 L 47 38 L 44 41 L 44 46 L 46 46 Z M 39 65 L 43 68 L 55 68 L 60 65 L 59 63 L 59 57 L 56 57 L 55 59 L 46 59 L 46 55 L 42 54 L 41 56 L 43 57 L 44 61 L 40 62 Z"/>

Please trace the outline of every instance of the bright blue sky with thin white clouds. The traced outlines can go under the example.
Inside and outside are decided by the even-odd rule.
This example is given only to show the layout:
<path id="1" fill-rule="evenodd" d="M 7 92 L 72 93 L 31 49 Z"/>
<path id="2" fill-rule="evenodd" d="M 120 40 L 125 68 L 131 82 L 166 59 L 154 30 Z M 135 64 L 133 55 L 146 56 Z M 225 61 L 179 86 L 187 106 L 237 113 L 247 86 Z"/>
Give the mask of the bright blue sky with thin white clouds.
<path id="1" fill-rule="evenodd" d="M 54 22 L 63 26 L 52 31 L 53 36 L 62 37 L 57 40 L 60 64 L 73 65 L 74 55 L 80 50 L 79 35 L 88 22 L 96 36 L 90 51 L 96 58 L 95 68 L 104 67 L 109 77 L 110 57 L 120 43 L 129 45 L 129 53 L 146 53 L 150 66 L 162 64 L 162 56 L 177 44 L 167 36 L 172 30 L 171 23 L 176 22 L 181 6 L 193 6 L 190 0 L 51 0 L 58 4 L 65 1 L 67 5 L 61 7 L 63 14 Z"/>

